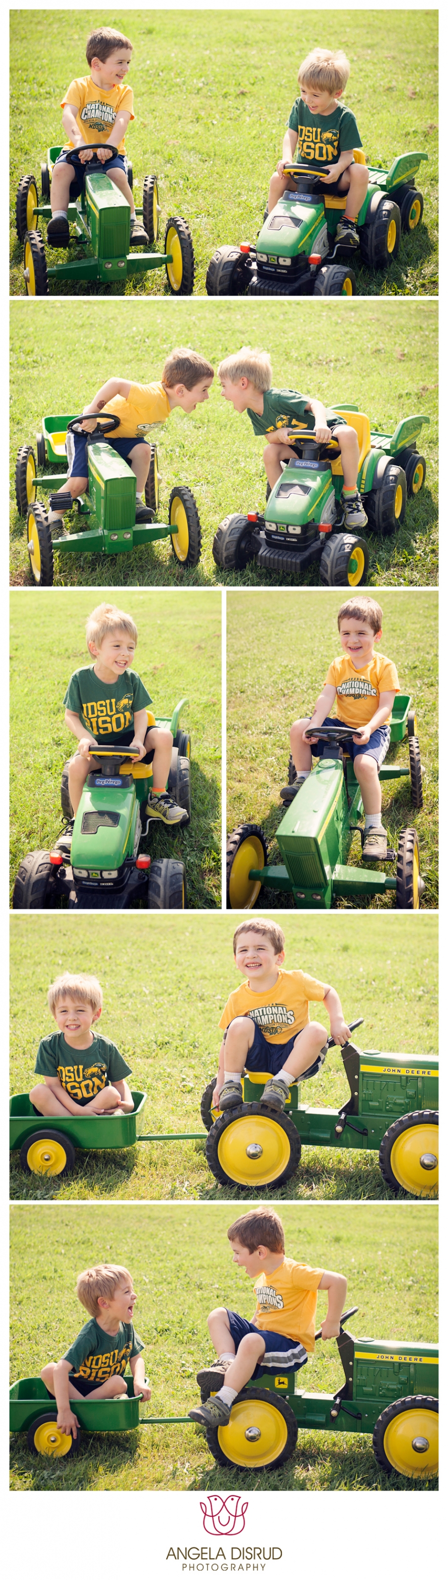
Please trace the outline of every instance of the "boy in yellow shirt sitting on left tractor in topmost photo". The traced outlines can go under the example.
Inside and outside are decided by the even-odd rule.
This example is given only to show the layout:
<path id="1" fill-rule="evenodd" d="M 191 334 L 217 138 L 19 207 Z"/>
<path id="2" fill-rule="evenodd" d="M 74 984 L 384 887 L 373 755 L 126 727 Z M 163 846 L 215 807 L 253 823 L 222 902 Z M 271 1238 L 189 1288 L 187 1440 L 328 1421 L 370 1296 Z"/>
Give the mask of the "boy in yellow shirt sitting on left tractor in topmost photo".
<path id="1" fill-rule="evenodd" d="M 133 88 L 125 85 L 128 76 L 133 44 L 125 33 L 117 33 L 115 27 L 96 27 L 90 33 L 85 46 L 90 66 L 88 77 L 74 77 L 65 98 L 62 100 L 62 123 L 68 136 L 62 153 L 52 171 L 50 204 L 52 218 L 47 224 L 47 239 L 52 246 L 68 246 L 69 196 L 79 198 L 84 188 L 85 166 L 95 156 L 107 167 L 110 182 L 118 186 L 131 209 L 131 246 L 147 246 L 148 237 L 136 216 L 134 198 L 128 182 L 125 133 L 129 120 L 134 120 Z M 99 142 L 96 155 L 85 149 L 85 144 Z M 110 144 L 117 149 L 112 155 Z M 74 163 L 66 163 L 66 155 L 76 150 Z M 69 193 L 73 182 L 76 193 Z"/>

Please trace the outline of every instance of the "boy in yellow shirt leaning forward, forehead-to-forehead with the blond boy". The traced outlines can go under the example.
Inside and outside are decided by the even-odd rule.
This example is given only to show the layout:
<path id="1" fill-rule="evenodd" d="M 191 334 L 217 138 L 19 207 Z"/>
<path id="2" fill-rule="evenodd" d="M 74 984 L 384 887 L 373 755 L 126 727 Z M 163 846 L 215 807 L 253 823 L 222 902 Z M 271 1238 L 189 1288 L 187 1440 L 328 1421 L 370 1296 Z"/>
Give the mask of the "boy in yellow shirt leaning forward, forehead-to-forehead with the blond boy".
<path id="1" fill-rule="evenodd" d="M 145 482 L 150 471 L 151 450 L 144 433 L 167 422 L 167 417 L 181 406 L 181 411 L 194 411 L 203 400 L 208 400 L 210 384 L 213 384 L 213 367 L 207 357 L 196 351 L 177 346 L 169 352 L 162 376 L 155 384 L 133 384 L 131 379 L 107 379 L 93 395 L 93 401 L 85 408 L 79 433 L 66 434 L 68 479 L 55 495 L 50 495 L 49 526 L 60 521 L 65 504 L 58 504 L 60 495 L 69 493 L 73 499 L 85 493 L 88 487 L 87 438 L 96 428 L 90 414 L 99 411 L 120 417 L 120 428 L 104 434 L 104 444 L 128 461 L 137 480 L 136 521 L 151 521 L 153 510 L 144 504 Z M 69 507 L 71 509 L 71 507 Z"/>

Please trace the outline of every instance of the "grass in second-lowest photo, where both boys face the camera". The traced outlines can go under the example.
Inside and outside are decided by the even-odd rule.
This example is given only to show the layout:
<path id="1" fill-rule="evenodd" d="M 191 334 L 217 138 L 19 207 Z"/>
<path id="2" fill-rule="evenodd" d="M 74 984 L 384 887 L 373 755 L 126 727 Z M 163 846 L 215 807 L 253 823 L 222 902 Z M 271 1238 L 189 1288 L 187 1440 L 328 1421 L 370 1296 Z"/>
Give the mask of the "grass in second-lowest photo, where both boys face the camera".
<path id="1" fill-rule="evenodd" d="M 437 1051 L 437 918 L 282 918 L 286 967 L 331 983 L 361 1049 L 413 1055 Z M 30 1092 L 38 1043 L 54 1029 L 49 983 L 62 970 L 93 972 L 104 992 L 101 1025 L 117 1043 L 134 1090 L 147 1092 L 144 1133 L 202 1133 L 200 1097 L 218 1070 L 219 1019 L 240 975 L 232 937 L 238 918 L 39 915 L 11 916 L 11 1090 Z M 24 991 L 24 961 L 33 962 Z M 120 962 L 120 967 L 117 969 Z M 328 1029 L 322 1005 L 311 1008 Z M 341 1108 L 347 1079 L 339 1049 L 328 1051 L 322 1076 L 301 1087 L 301 1101 Z M 205 1131 L 203 1131 L 205 1138 Z M 77 1152 L 66 1179 L 22 1174 L 11 1153 L 11 1196 L 22 1199 L 207 1199 L 245 1202 L 249 1191 L 218 1185 L 205 1141 L 137 1142 L 121 1152 Z M 298 1172 L 273 1196 L 386 1199 L 374 1152 L 304 1147 Z"/>

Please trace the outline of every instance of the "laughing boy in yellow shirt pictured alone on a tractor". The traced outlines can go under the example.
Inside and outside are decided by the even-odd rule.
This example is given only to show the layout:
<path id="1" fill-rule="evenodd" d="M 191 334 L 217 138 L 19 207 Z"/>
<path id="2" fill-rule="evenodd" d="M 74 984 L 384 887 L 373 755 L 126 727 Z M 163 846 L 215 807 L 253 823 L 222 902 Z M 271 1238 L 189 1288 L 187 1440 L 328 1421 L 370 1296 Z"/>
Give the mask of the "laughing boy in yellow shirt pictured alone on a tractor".
<path id="1" fill-rule="evenodd" d="M 333 659 L 325 686 L 317 698 L 311 719 L 297 719 L 290 730 L 290 750 L 297 769 L 297 790 L 312 768 L 312 755 L 334 755 L 334 749 L 315 738 L 306 739 L 306 730 L 315 724 L 347 724 L 353 739 L 344 750 L 353 758 L 353 769 L 361 787 L 366 814 L 363 861 L 385 861 L 388 848 L 386 830 L 382 826 L 382 787 L 379 768 L 390 744 L 390 719 L 394 697 L 399 692 L 396 665 L 382 653 L 374 653 L 374 643 L 382 638 L 382 608 L 372 597 L 352 597 L 341 605 L 338 627 L 342 657 Z M 330 709 L 338 698 L 336 719 Z M 312 754 L 312 755 L 311 755 Z"/>

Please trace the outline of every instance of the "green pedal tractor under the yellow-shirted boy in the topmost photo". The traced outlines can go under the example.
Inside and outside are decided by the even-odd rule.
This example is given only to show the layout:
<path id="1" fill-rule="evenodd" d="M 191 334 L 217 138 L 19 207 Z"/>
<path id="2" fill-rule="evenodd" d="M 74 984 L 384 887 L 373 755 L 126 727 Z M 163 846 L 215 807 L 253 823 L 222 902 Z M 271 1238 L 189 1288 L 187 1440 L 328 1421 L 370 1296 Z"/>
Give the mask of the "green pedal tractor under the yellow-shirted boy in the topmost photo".
<path id="1" fill-rule="evenodd" d="M 99 149 L 104 144 L 90 142 L 88 149 Z M 16 226 L 19 242 L 24 242 L 24 280 L 27 295 L 47 295 L 49 280 L 79 281 L 88 280 L 99 284 L 115 284 L 129 275 L 148 273 L 153 269 L 166 269 L 169 289 L 174 295 L 191 295 L 194 286 L 194 251 L 189 228 L 178 215 L 172 215 L 166 224 L 164 251 L 153 251 L 159 234 L 159 199 L 156 175 L 145 175 L 144 205 L 136 209 L 144 218 L 148 237 L 148 248 L 131 250 L 131 209 L 123 193 L 107 175 L 107 164 L 98 158 L 88 161 L 85 185 L 80 198 L 73 198 L 68 209 L 68 220 L 73 224 L 71 243 L 84 248 L 84 258 L 66 259 L 63 264 L 47 265 L 46 248 L 38 231 L 38 220 L 50 220 L 50 179 L 55 160 L 63 152 L 60 147 L 47 150 L 47 161 L 41 164 L 41 199 L 35 175 L 22 175 L 16 198 Z M 76 150 L 73 150 L 76 152 Z M 112 147 L 115 158 L 117 149 Z M 73 163 L 71 153 L 66 155 Z M 133 186 L 133 166 L 128 163 L 128 182 Z M 55 243 L 52 243 L 55 245 Z"/>

